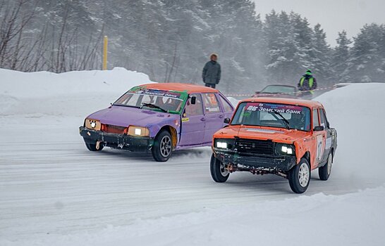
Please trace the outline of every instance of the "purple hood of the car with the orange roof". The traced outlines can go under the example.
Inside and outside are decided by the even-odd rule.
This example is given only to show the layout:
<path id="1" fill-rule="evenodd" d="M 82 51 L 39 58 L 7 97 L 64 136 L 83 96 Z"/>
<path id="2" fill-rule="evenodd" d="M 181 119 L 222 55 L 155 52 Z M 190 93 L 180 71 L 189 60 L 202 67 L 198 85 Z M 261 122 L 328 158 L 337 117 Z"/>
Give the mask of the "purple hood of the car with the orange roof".
<path id="1" fill-rule="evenodd" d="M 180 115 L 169 114 L 166 112 L 156 112 L 153 110 L 142 110 L 112 105 L 110 108 L 99 110 L 89 115 L 90 119 L 98 119 L 102 124 L 111 124 L 118 127 L 149 127 L 154 125 L 166 124 L 179 119 Z"/>

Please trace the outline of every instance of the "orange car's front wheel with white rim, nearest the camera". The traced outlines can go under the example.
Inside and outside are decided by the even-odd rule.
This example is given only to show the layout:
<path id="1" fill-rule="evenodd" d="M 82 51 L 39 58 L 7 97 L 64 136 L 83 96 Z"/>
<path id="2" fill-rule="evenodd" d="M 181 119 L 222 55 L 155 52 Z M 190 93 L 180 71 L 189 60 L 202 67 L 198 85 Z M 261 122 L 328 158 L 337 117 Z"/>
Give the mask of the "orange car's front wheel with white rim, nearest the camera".
<path id="1" fill-rule="evenodd" d="M 302 158 L 288 173 L 291 190 L 295 193 L 304 193 L 309 187 L 312 171 L 306 158 Z"/>

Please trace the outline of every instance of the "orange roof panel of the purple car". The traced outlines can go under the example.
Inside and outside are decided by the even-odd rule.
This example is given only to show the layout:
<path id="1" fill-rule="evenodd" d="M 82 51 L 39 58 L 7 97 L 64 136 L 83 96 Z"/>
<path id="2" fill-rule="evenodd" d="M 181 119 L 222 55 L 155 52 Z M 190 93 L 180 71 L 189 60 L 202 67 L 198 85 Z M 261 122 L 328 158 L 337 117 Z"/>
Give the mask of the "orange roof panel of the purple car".
<path id="1" fill-rule="evenodd" d="M 218 90 L 212 89 L 210 87 L 198 86 L 195 84 L 183 84 L 183 83 L 154 83 L 154 84 L 142 84 L 142 86 L 146 86 L 147 89 L 163 90 L 163 91 L 187 91 L 188 93 L 218 92 Z"/>

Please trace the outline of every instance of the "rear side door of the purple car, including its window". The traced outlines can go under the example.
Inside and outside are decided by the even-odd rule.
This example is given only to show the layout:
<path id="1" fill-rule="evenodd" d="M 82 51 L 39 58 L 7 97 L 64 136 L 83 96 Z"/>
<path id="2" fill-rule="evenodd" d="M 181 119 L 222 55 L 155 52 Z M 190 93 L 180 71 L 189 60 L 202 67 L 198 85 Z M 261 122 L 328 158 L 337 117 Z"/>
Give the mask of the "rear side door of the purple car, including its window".
<path id="1" fill-rule="evenodd" d="M 212 136 L 224 126 L 224 112 L 221 110 L 216 93 L 202 93 L 205 128 L 203 143 L 211 143 Z"/>

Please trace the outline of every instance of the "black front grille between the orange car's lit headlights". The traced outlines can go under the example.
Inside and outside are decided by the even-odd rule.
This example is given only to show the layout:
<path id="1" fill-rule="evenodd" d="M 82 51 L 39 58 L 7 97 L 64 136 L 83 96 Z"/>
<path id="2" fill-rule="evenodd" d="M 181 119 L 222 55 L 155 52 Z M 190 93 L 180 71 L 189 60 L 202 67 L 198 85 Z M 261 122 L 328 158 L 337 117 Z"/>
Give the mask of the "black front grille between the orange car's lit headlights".
<path id="1" fill-rule="evenodd" d="M 274 155 L 273 141 L 238 138 L 235 147 L 240 153 Z"/>

